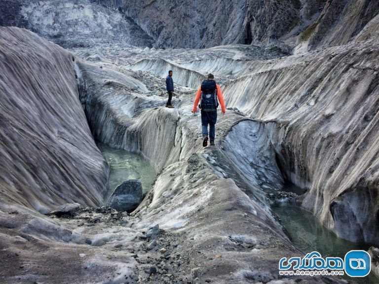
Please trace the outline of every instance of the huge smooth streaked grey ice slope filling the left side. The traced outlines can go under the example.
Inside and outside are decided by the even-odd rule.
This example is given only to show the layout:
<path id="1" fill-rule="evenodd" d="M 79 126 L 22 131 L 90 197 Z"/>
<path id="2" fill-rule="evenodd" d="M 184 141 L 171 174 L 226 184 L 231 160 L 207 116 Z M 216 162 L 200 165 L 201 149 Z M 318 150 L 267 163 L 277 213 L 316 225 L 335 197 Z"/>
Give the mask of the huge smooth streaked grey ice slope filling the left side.
<path id="1" fill-rule="evenodd" d="M 109 169 L 78 99 L 74 56 L 3 27 L 0 53 L 1 200 L 42 213 L 100 204 Z"/>

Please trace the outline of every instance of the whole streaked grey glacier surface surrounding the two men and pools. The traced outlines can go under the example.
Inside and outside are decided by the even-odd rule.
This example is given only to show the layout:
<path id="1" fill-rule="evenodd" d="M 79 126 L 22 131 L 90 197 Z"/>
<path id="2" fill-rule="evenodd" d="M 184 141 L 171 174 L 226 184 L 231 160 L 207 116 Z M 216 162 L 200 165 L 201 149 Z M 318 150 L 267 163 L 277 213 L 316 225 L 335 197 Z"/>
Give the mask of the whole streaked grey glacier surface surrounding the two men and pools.
<path id="1" fill-rule="evenodd" d="M 138 49 L 114 46 L 98 56 L 81 49 L 91 63 L 25 30 L 0 28 L 0 40 L 6 57 L 0 61 L 6 70 L 0 74 L 6 94 L 0 239 L 12 252 L 26 243 L 20 238 L 28 240 L 24 259 L 46 263 L 43 247 L 64 255 L 65 267 L 82 268 L 79 280 L 70 278 L 78 276 L 73 273 L 67 282 L 122 283 L 127 275 L 143 281 L 137 261 L 114 245 L 145 257 L 153 252 L 142 252 L 146 244 L 139 238 L 159 224 L 178 238 L 182 253 L 204 254 L 189 261 L 216 268 L 212 281 L 279 283 L 273 280 L 278 257 L 299 253 L 269 209 L 267 194 L 280 190 L 284 179 L 308 188 L 302 206 L 338 236 L 377 242 L 377 39 L 285 58 L 254 57 L 255 47 L 238 45 L 169 55 L 145 49 L 136 58 L 130 54 Z M 163 107 L 166 97 L 158 95 L 168 69 L 180 93 L 175 109 Z M 156 76 L 145 77 L 148 71 Z M 199 116 L 190 109 L 193 89 L 209 71 L 222 83 L 227 106 L 242 112 L 220 115 L 217 145 L 203 148 Z M 107 222 L 78 228 L 76 220 L 52 221 L 35 211 L 67 202 L 102 204 L 109 169 L 91 132 L 142 154 L 159 173 L 147 198 L 125 216 L 133 220 L 125 226 L 108 226 L 106 216 Z M 11 230 L 20 238 L 10 237 Z M 256 246 L 254 257 L 240 242 Z"/>

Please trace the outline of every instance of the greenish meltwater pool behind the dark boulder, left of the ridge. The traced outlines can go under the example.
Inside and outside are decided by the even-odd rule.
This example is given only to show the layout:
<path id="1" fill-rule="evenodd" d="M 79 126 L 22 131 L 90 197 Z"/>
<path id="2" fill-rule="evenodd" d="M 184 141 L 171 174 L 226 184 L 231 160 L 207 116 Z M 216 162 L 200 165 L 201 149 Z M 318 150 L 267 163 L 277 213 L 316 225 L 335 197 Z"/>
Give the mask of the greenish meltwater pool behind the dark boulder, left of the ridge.
<path id="1" fill-rule="evenodd" d="M 127 179 L 141 180 L 144 194 L 152 188 L 156 173 L 142 156 L 123 149 L 115 149 L 100 142 L 96 144 L 111 169 L 108 195 L 111 195 L 114 188 Z"/>

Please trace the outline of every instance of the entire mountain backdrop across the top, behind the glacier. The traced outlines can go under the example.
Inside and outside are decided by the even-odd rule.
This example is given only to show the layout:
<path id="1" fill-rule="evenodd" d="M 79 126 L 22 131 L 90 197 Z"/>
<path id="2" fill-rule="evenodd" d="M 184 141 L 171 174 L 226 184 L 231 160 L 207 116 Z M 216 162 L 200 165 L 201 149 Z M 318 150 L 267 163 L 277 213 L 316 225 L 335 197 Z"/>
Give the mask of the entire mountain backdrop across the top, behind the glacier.
<path id="1" fill-rule="evenodd" d="M 68 48 L 239 43 L 299 53 L 368 39 L 378 13 L 377 0 L 4 0 L 0 25 L 28 28 Z"/>

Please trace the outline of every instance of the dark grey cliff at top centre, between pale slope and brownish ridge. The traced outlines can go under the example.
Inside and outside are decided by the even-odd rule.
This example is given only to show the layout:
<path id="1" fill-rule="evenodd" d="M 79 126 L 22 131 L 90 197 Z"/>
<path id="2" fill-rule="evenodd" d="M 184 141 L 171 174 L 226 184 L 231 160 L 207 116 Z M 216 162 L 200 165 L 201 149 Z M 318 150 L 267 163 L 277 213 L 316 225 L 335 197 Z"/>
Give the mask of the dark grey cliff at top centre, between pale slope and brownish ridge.
<path id="1" fill-rule="evenodd" d="M 230 43 L 269 44 L 295 25 L 301 6 L 299 0 L 100 2 L 113 8 L 122 7 L 155 39 L 155 46 L 174 48 L 205 48 Z"/>

